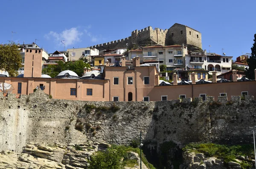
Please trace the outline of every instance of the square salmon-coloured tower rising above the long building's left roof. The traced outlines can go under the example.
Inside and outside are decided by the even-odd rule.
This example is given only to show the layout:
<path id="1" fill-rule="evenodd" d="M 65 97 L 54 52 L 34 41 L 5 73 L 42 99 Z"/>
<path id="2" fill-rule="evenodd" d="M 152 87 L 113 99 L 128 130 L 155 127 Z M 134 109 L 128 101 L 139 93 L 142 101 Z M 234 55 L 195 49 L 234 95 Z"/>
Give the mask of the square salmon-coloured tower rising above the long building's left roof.
<path id="1" fill-rule="evenodd" d="M 32 52 L 30 52 L 30 50 Z M 39 50 L 41 50 L 41 53 L 39 53 Z M 35 53 L 35 51 L 37 51 L 37 53 Z M 25 49 L 24 77 L 41 77 L 42 53 L 42 49 Z"/>

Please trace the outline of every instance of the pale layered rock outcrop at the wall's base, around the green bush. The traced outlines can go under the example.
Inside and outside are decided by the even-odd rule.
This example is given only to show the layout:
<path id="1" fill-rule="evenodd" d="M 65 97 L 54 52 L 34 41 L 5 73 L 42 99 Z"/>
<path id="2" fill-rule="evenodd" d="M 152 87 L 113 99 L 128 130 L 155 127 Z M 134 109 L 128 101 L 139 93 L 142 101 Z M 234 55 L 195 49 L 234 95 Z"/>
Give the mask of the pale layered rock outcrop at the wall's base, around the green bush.
<path id="1" fill-rule="evenodd" d="M 22 153 L 2 151 L 0 169 L 87 169 L 90 156 L 109 147 L 111 145 L 108 143 L 97 142 L 67 146 L 29 143 Z M 132 157 L 139 163 L 137 153 L 133 153 Z M 144 163 L 143 169 L 147 169 Z"/>

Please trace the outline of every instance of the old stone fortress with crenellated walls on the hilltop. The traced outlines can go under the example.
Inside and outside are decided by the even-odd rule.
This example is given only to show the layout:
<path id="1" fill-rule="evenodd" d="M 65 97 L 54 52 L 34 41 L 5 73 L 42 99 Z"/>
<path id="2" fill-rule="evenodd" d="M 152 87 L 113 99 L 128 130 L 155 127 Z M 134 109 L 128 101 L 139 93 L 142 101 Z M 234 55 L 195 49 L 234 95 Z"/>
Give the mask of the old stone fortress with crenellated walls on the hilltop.
<path id="1" fill-rule="evenodd" d="M 175 23 L 169 29 L 153 29 L 151 26 L 141 30 L 131 32 L 130 37 L 121 40 L 114 40 L 108 43 L 102 43 L 90 48 L 96 48 L 99 51 L 104 49 L 116 49 L 128 47 L 131 48 L 134 44 L 138 46 L 148 46 L 149 44 L 168 45 L 188 45 L 189 50 L 202 49 L 201 33 L 188 26 Z"/>

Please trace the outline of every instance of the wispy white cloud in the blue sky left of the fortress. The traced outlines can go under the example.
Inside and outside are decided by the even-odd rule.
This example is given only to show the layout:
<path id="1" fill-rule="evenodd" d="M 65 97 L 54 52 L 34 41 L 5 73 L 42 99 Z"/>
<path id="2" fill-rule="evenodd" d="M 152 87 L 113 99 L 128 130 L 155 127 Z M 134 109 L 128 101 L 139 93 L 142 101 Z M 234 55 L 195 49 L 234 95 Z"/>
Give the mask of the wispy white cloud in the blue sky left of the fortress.
<path id="1" fill-rule="evenodd" d="M 45 38 L 48 40 L 53 39 L 57 44 L 61 44 L 61 40 L 65 40 L 65 45 L 73 45 L 80 41 L 80 37 L 83 32 L 79 32 L 76 28 L 66 29 L 61 33 L 49 32 L 45 34 Z"/>

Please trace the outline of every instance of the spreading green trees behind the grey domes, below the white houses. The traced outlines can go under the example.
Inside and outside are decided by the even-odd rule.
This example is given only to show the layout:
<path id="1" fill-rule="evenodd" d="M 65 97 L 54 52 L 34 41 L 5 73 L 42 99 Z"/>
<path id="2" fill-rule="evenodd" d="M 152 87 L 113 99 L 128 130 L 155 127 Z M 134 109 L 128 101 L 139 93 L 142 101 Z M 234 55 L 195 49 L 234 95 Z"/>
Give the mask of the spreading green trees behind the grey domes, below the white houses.
<path id="1" fill-rule="evenodd" d="M 75 72 L 78 76 L 82 76 L 84 72 L 84 67 L 90 68 L 89 63 L 84 63 L 84 60 L 76 60 L 75 62 L 56 62 L 58 65 L 49 65 L 47 68 L 42 70 L 43 74 L 48 74 L 50 77 L 56 77 L 60 72 L 64 70 L 71 70 Z"/>

